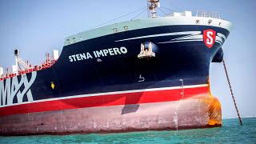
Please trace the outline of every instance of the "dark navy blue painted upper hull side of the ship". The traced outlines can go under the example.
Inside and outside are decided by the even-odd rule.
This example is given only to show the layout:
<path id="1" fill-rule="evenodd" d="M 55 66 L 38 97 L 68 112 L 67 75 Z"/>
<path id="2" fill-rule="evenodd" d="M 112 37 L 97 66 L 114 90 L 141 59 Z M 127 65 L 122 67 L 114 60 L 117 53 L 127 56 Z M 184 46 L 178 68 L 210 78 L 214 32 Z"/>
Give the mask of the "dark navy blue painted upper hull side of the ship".
<path id="1" fill-rule="evenodd" d="M 78 94 L 94 94 L 120 90 L 138 90 L 166 86 L 206 84 L 210 62 L 217 57 L 221 44 L 214 43 L 207 48 L 202 41 L 166 42 L 179 36 L 140 38 L 124 42 L 119 39 L 139 37 L 150 34 L 166 34 L 182 31 L 203 31 L 213 29 L 226 37 L 229 31 L 212 26 L 159 26 L 142 30 L 131 30 L 110 34 L 64 46 L 58 62 L 47 70 L 38 71 L 34 85 L 31 86 L 34 100 L 58 98 Z M 183 35 L 182 35 L 183 36 Z M 186 36 L 186 35 L 184 35 Z M 155 58 L 139 59 L 141 42 L 154 42 L 158 46 Z M 114 47 L 126 47 L 126 54 L 88 58 L 70 62 L 70 55 L 82 54 Z M 138 82 L 140 76 L 144 82 Z M 54 90 L 50 86 L 54 82 Z"/>

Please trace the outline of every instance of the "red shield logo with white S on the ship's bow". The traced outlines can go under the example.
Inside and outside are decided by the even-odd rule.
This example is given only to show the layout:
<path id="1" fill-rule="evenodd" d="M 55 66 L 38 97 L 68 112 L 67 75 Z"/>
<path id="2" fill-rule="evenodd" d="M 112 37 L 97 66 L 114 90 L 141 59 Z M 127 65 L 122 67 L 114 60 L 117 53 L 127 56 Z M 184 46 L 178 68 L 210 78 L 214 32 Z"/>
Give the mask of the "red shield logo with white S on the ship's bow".
<path id="1" fill-rule="evenodd" d="M 214 46 L 215 38 L 216 31 L 210 29 L 203 30 L 203 41 L 205 42 L 207 47 L 211 48 L 212 46 Z"/>

